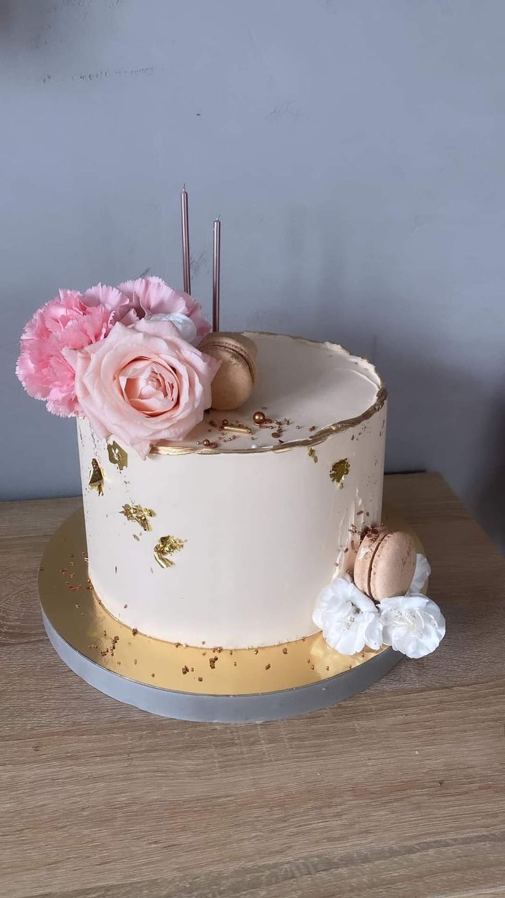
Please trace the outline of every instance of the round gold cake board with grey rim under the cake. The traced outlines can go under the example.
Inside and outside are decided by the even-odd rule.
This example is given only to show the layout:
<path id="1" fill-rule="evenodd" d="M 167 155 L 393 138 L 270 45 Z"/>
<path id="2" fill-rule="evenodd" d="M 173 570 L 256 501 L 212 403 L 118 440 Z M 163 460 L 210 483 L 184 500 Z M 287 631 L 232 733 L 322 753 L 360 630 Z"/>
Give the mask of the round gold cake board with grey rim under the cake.
<path id="1" fill-rule="evenodd" d="M 384 520 L 412 533 L 422 550 L 394 511 L 385 508 Z M 82 509 L 48 542 L 39 595 L 48 638 L 75 674 L 114 699 L 162 717 L 214 723 L 289 718 L 367 689 L 402 658 L 387 647 L 340 655 L 320 633 L 233 650 L 135 633 L 109 614 L 88 580 Z"/>

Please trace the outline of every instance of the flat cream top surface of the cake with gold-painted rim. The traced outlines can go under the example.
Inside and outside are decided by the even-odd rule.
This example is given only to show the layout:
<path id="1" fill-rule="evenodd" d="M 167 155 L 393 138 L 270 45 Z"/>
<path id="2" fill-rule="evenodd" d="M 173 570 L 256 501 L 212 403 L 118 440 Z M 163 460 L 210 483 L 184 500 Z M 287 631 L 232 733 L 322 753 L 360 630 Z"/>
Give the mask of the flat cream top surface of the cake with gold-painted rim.
<path id="1" fill-rule="evenodd" d="M 317 444 L 328 431 L 368 417 L 386 398 L 374 366 L 341 346 L 283 334 L 245 335 L 257 345 L 257 379 L 248 401 L 235 411 L 209 409 L 186 439 L 161 442 L 154 452 L 261 452 Z M 261 425 L 257 412 L 266 418 Z M 223 421 L 250 433 L 223 429 Z"/>

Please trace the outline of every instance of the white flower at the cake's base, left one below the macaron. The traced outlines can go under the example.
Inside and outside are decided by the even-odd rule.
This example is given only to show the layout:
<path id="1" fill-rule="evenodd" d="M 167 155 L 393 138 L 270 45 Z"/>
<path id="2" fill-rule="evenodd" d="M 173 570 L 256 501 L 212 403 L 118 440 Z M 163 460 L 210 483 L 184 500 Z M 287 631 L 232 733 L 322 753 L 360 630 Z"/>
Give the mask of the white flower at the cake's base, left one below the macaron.
<path id="1" fill-rule="evenodd" d="M 365 646 L 380 648 L 382 623 L 376 605 L 350 578 L 336 577 L 318 597 L 312 620 L 323 631 L 328 646 L 354 655 Z"/>

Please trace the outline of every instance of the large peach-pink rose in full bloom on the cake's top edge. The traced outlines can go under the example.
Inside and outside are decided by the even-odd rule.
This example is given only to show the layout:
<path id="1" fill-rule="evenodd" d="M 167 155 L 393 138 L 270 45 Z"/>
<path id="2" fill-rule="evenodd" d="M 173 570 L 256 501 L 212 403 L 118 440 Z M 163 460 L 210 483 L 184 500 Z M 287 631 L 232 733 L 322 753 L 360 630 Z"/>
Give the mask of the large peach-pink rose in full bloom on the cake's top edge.
<path id="1" fill-rule="evenodd" d="M 143 458 L 160 440 L 181 440 L 211 405 L 219 363 L 181 339 L 170 321 L 116 324 L 107 339 L 67 352 L 75 392 L 95 433 Z"/>

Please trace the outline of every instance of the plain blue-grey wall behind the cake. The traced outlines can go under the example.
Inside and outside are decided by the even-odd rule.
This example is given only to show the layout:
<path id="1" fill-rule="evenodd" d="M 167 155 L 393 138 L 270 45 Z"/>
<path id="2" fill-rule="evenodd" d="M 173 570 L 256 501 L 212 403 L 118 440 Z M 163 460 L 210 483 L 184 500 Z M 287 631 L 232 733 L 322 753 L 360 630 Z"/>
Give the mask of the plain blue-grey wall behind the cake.
<path id="1" fill-rule="evenodd" d="M 0 0 L 1 495 L 79 489 L 13 377 L 58 286 L 145 269 L 226 329 L 332 339 L 390 388 L 389 471 L 505 538 L 503 0 Z"/>

